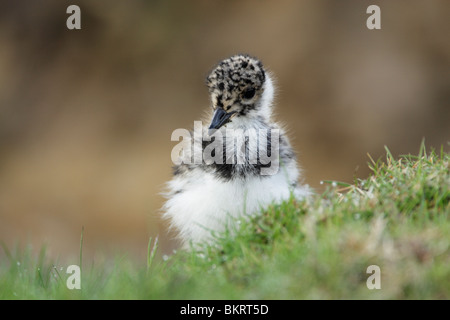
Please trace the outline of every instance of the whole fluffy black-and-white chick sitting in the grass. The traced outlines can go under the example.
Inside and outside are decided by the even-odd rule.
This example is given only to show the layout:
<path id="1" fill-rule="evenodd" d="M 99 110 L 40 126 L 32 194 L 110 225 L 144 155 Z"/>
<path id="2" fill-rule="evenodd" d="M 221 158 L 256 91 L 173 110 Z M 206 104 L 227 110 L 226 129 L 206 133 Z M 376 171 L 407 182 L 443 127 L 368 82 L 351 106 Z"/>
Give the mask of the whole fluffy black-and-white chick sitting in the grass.
<path id="1" fill-rule="evenodd" d="M 202 135 L 188 141 L 193 153 L 180 155 L 181 164 L 174 167 L 163 207 L 164 217 L 170 219 L 185 244 L 210 241 L 212 232 L 223 231 L 243 215 L 258 214 L 270 203 L 289 199 L 291 195 L 302 199 L 310 193 L 308 186 L 298 184 L 295 153 L 284 130 L 272 120 L 274 87 L 262 63 L 248 55 L 232 56 L 212 70 L 206 84 L 213 114 L 202 127 Z M 271 163 L 259 159 L 260 154 L 270 150 L 271 139 L 258 148 L 249 143 L 237 147 L 225 143 L 222 163 L 205 160 L 193 163 L 195 151 L 207 150 L 214 141 L 215 130 L 220 131 L 226 142 L 245 139 L 242 133 L 252 129 L 267 132 L 269 138 L 273 130 L 279 133 L 275 141 L 279 152 L 271 155 L 276 156 Z M 233 150 L 228 150 L 230 145 Z M 256 162 L 248 159 L 252 152 L 258 155 Z M 239 154 L 245 161 L 237 162 L 236 158 L 234 162 L 227 161 L 229 154 L 232 157 Z M 278 169 L 262 174 L 270 166 Z"/>

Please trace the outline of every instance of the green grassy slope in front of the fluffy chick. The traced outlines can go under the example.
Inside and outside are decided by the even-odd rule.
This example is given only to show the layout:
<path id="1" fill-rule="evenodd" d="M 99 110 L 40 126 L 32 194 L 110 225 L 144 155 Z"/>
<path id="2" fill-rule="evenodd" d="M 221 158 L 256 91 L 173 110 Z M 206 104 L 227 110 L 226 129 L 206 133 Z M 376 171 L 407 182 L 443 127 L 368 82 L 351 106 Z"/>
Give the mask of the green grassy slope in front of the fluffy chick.
<path id="1" fill-rule="evenodd" d="M 141 264 L 83 261 L 81 290 L 67 289 L 45 250 L 4 247 L 0 299 L 449 299 L 450 155 L 386 151 L 369 178 L 270 206 L 212 247 L 161 259 L 150 239 Z M 379 290 L 366 286 L 370 265 Z"/>

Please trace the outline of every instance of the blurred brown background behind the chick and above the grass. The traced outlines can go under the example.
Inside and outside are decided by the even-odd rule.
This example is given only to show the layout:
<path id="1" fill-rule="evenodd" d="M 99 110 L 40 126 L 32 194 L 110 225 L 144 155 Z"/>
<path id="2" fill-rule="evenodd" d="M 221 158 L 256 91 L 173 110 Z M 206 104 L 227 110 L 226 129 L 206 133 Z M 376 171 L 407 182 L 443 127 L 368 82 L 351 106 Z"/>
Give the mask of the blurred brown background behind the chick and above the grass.
<path id="1" fill-rule="evenodd" d="M 201 118 L 205 77 L 235 53 L 275 75 L 276 119 L 317 192 L 367 177 L 385 145 L 449 150 L 449 16 L 448 0 L 0 2 L 0 241 L 65 260 L 84 226 L 85 257 L 142 260 L 156 235 L 170 253 L 170 136 Z"/>

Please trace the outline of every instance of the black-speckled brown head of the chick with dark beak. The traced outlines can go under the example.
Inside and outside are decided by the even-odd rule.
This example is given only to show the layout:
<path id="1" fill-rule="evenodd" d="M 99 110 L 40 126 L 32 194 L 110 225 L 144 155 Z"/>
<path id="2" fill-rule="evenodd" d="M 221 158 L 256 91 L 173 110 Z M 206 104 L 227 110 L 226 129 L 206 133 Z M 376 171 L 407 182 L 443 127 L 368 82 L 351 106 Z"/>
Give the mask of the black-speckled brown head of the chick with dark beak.
<path id="1" fill-rule="evenodd" d="M 248 55 L 235 55 L 220 62 L 206 78 L 215 110 L 210 129 L 258 112 L 267 78 L 262 63 Z"/>

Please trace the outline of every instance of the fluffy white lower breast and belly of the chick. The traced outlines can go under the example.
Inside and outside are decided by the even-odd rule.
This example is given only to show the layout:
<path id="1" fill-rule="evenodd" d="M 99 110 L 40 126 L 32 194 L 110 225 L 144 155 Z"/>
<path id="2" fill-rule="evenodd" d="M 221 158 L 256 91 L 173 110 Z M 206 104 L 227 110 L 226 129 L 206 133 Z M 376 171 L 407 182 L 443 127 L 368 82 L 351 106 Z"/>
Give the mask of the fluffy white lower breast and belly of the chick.
<path id="1" fill-rule="evenodd" d="M 289 199 L 291 193 L 297 198 L 307 196 L 307 187 L 291 187 L 297 177 L 295 167 L 280 168 L 273 176 L 226 182 L 210 173 L 193 170 L 188 179 L 175 177 L 169 182 L 169 189 L 180 192 L 166 202 L 164 216 L 186 243 L 202 242 L 211 239 L 212 232 L 224 231 L 227 226 L 233 230 L 237 218 L 258 214 L 273 202 Z"/>

